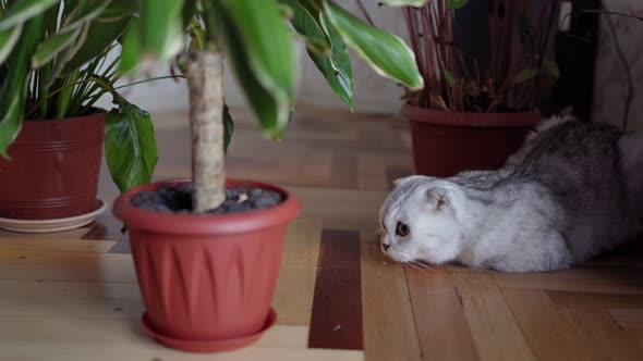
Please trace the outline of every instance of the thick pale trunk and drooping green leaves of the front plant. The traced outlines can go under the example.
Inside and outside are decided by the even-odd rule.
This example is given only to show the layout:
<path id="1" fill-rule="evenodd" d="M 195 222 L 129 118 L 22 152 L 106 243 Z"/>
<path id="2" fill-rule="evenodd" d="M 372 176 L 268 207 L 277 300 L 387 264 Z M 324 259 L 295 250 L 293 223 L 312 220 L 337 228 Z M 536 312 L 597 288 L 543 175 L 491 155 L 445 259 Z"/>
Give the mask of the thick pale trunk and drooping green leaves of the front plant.
<path id="1" fill-rule="evenodd" d="M 400 2 L 404 3 L 393 4 Z M 185 74 L 196 211 L 217 208 L 225 200 L 225 149 L 232 121 L 223 102 L 223 58 L 229 60 L 254 117 L 270 138 L 280 139 L 293 112 L 295 39 L 305 42 L 330 88 L 350 108 L 349 48 L 379 75 L 411 89 L 424 86 L 414 54 L 400 38 L 364 23 L 330 0 L 141 1 L 141 17 L 123 40 L 121 69 L 126 73 L 144 71 L 156 62 L 170 61 Z"/>

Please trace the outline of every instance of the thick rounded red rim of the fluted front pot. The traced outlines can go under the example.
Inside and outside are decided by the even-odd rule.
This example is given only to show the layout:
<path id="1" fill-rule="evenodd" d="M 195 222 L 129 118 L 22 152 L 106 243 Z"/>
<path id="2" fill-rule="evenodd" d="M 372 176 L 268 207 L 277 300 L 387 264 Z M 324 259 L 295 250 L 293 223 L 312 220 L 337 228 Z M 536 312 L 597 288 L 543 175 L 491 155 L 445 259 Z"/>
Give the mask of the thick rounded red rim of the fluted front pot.
<path id="1" fill-rule="evenodd" d="M 130 228 L 154 231 L 177 235 L 227 235 L 241 234 L 262 228 L 278 226 L 296 217 L 301 212 L 301 202 L 290 191 L 267 183 L 243 178 L 226 179 L 226 187 L 250 184 L 265 190 L 282 194 L 284 200 L 270 208 L 242 213 L 229 214 L 177 214 L 137 208 L 130 203 L 132 197 L 141 190 L 154 190 L 168 184 L 191 183 L 191 179 L 168 179 L 147 183 L 134 187 L 117 198 L 113 214 Z"/>

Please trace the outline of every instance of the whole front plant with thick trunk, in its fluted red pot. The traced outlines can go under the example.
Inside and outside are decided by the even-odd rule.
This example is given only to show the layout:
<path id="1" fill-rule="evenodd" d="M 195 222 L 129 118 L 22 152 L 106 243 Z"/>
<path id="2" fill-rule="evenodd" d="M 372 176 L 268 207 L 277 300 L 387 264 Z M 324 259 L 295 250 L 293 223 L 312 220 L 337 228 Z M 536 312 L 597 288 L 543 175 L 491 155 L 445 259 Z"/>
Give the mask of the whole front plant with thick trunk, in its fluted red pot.
<path id="1" fill-rule="evenodd" d="M 270 301 L 283 235 L 300 203 L 274 185 L 226 178 L 233 123 L 223 101 L 223 58 L 271 139 L 283 136 L 293 111 L 295 38 L 351 108 L 349 47 L 384 76 L 411 88 L 423 80 L 401 39 L 328 0 L 143 0 L 141 7 L 123 40 L 122 69 L 175 62 L 187 79 L 192 133 L 192 179 L 135 187 L 113 208 L 129 228 L 143 324 L 183 350 L 242 347 L 275 323 Z"/>

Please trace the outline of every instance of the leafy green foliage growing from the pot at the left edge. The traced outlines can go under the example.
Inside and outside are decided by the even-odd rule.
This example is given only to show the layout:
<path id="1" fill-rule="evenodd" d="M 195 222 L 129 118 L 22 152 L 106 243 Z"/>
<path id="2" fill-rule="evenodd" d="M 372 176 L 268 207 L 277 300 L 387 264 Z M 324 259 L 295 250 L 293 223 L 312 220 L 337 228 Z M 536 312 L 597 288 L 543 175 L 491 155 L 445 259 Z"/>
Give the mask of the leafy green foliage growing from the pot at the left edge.
<path id="1" fill-rule="evenodd" d="M 54 121 L 106 112 L 105 153 L 121 190 L 150 180 L 157 148 L 149 114 L 114 86 L 120 57 L 109 57 L 138 13 L 130 0 L 0 0 L 0 154 L 23 120 Z"/>

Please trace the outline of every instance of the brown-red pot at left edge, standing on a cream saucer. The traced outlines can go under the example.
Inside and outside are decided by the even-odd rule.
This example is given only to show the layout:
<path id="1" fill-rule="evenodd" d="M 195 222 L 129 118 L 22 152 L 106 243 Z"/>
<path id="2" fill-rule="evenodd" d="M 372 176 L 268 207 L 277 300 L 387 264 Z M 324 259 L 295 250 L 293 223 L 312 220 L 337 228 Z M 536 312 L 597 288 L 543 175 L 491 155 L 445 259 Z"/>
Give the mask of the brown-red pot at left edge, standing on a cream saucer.
<path id="1" fill-rule="evenodd" d="M 102 160 L 105 114 L 25 121 L 0 158 L 0 217 L 50 220 L 92 212 Z"/>

